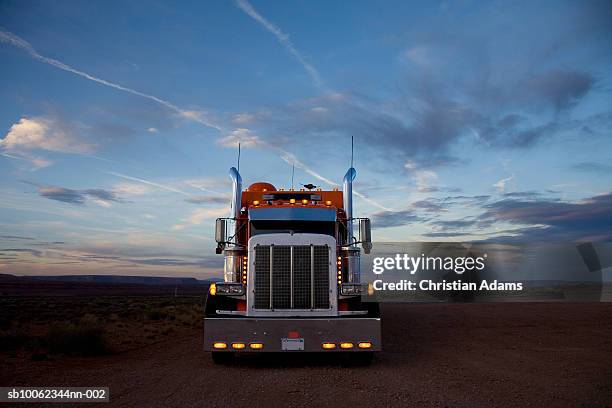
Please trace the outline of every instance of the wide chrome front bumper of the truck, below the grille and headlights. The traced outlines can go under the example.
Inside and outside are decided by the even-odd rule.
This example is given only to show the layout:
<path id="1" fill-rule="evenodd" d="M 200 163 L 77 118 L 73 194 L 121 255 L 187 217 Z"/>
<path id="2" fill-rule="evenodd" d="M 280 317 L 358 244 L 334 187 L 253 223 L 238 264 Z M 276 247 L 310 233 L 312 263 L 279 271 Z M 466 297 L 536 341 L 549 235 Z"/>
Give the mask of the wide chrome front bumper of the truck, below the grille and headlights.
<path id="1" fill-rule="evenodd" d="M 283 349 L 283 339 L 303 339 L 303 350 Z M 215 342 L 223 342 L 227 349 L 216 350 Z M 354 344 L 341 349 L 340 343 Z M 358 343 L 369 342 L 369 349 L 358 348 Z M 232 349 L 232 343 L 244 343 L 242 350 Z M 261 350 L 252 350 L 250 343 L 262 343 Z M 325 350 L 322 343 L 334 343 L 335 349 Z M 242 352 L 363 352 L 381 350 L 381 321 L 378 317 L 364 318 L 254 318 L 213 317 L 204 319 L 204 351 Z"/>

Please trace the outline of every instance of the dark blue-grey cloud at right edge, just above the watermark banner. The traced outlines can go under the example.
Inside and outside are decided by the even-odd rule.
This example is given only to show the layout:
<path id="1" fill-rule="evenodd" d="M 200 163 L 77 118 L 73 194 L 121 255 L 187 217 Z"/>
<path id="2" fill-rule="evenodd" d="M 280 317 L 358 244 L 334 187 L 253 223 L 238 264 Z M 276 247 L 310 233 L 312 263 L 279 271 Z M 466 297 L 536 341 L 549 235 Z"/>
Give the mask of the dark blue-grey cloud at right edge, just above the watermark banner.
<path id="1" fill-rule="evenodd" d="M 481 219 L 525 225 L 517 240 L 612 241 L 612 193 L 578 202 L 502 200 Z"/>

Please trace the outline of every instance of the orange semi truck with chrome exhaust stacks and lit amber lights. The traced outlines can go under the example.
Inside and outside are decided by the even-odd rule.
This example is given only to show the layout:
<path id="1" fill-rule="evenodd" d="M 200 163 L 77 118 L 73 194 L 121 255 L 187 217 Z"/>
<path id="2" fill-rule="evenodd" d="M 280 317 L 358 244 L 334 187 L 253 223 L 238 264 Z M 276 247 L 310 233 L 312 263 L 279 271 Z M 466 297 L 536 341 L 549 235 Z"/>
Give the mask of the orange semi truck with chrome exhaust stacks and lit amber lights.
<path id="1" fill-rule="evenodd" d="M 353 217 L 349 168 L 342 190 L 242 188 L 230 169 L 230 217 L 215 225 L 223 281 L 204 306 L 204 350 L 215 363 L 238 353 L 344 353 L 369 362 L 381 350 L 379 305 L 363 301 L 360 254 L 368 218 Z M 367 291 L 367 288 L 365 288 Z"/>

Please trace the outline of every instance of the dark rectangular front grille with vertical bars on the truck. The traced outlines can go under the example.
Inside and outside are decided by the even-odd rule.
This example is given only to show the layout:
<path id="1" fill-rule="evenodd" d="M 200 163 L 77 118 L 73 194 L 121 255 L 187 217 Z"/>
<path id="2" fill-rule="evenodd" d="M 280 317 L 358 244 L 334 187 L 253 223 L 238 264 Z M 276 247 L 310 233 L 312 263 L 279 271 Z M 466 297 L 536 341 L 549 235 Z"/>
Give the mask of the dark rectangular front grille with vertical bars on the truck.
<path id="1" fill-rule="evenodd" d="M 255 309 L 329 309 L 327 245 L 255 246 Z"/>

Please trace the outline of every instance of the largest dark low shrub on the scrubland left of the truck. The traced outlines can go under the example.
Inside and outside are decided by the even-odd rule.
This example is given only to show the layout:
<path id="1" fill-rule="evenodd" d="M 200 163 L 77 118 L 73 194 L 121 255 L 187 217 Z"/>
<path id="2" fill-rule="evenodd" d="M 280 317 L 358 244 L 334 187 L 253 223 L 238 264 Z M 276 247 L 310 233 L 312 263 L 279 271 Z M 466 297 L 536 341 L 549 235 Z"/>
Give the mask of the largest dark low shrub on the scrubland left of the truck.
<path id="1" fill-rule="evenodd" d="M 52 325 L 43 343 L 51 353 L 92 356 L 110 352 L 104 327 L 91 315 L 77 323 Z"/>

